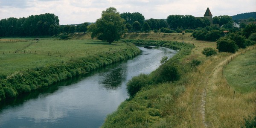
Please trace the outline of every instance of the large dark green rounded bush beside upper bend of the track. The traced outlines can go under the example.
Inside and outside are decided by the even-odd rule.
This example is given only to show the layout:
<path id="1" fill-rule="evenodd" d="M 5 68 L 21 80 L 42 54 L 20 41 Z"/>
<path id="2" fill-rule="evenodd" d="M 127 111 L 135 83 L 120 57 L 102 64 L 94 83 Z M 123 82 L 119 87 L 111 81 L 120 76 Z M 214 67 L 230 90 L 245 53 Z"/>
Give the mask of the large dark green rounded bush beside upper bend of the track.
<path id="1" fill-rule="evenodd" d="M 217 49 L 219 52 L 232 52 L 235 53 L 238 50 L 238 46 L 235 41 L 230 40 L 227 37 L 218 39 Z"/>

